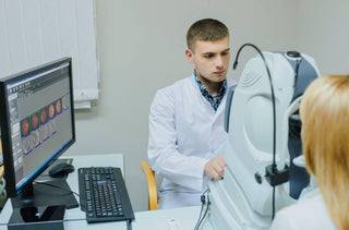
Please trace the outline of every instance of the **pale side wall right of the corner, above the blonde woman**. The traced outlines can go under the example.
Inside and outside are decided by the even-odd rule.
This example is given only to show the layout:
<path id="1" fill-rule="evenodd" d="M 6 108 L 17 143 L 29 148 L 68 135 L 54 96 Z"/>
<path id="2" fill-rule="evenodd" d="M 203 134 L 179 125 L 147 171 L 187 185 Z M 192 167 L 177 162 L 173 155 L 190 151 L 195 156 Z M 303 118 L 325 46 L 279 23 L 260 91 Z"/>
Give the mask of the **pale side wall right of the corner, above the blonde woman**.
<path id="1" fill-rule="evenodd" d="M 349 1 L 306 0 L 298 5 L 297 44 L 322 75 L 349 73 Z"/>

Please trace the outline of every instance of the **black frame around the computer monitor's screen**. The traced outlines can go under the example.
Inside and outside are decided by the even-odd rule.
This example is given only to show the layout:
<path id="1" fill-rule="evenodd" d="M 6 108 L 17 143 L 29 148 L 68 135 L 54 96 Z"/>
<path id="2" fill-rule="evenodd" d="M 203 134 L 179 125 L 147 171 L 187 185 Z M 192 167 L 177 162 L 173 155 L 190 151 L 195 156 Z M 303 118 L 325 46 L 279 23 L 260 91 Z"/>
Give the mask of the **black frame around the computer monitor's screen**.
<path id="1" fill-rule="evenodd" d="M 45 72 L 52 68 L 59 66 L 63 63 L 69 63 L 69 82 L 70 82 L 70 99 L 71 99 L 71 119 L 72 119 L 72 138 L 69 143 L 67 143 L 58 153 L 51 153 L 52 155 L 56 154 L 49 161 L 45 161 L 44 165 L 39 167 L 39 170 L 29 178 L 25 184 L 23 184 L 19 190 L 15 184 L 15 172 L 14 172 L 14 165 L 13 165 L 13 153 L 12 153 L 12 140 L 11 136 L 11 122 L 10 111 L 8 110 L 8 92 L 7 85 L 13 82 L 21 81 L 23 78 L 29 77 L 32 75 L 36 75 L 38 73 Z M 52 165 L 65 150 L 75 143 L 75 116 L 74 116 L 74 96 L 73 96 L 73 75 L 72 75 L 72 59 L 71 58 L 61 58 L 56 61 L 51 61 L 36 68 L 22 71 L 20 73 L 12 74 L 10 76 L 3 77 L 0 80 L 0 125 L 1 125 L 1 141 L 2 141 L 2 156 L 3 156 L 3 165 L 4 165 L 4 179 L 5 179 L 5 189 L 8 197 L 15 197 L 25 190 L 26 186 L 32 186 L 33 181 L 43 173 L 50 165 Z"/>

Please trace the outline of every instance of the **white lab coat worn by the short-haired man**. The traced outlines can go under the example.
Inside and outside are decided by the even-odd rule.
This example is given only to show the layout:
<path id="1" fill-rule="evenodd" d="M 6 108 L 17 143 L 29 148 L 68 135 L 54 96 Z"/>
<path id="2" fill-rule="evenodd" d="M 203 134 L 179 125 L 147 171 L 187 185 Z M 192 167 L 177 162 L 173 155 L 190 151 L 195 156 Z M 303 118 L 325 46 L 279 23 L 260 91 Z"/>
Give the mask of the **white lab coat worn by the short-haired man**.
<path id="1" fill-rule="evenodd" d="M 228 87 L 236 84 L 228 80 Z M 164 177 L 159 208 L 201 205 L 207 187 L 205 164 L 222 154 L 227 133 L 224 117 L 227 92 L 217 109 L 202 96 L 194 76 L 159 89 L 151 106 L 148 158 Z"/>

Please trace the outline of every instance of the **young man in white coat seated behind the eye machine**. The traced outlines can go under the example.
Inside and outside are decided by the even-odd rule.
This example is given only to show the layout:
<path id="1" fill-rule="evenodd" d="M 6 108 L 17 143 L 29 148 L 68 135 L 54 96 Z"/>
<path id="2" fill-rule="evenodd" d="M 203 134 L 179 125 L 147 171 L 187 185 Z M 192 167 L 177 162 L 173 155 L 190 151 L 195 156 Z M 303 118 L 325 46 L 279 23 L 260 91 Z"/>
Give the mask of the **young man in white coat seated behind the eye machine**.
<path id="1" fill-rule="evenodd" d="M 159 89 L 151 106 L 148 158 L 164 180 L 159 208 L 201 205 L 209 179 L 222 179 L 224 116 L 230 62 L 229 31 L 217 20 L 195 22 L 186 34 L 193 74 Z"/>

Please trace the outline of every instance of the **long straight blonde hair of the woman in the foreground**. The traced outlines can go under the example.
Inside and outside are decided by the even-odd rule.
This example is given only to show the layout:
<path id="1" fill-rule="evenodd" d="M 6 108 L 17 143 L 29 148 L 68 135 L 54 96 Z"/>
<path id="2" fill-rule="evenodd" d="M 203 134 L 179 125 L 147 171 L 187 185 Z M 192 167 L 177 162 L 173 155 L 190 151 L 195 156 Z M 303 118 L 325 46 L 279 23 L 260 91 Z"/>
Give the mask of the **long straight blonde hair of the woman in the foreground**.
<path id="1" fill-rule="evenodd" d="M 349 75 L 315 80 L 303 95 L 300 116 L 306 169 L 337 229 L 349 229 Z"/>

